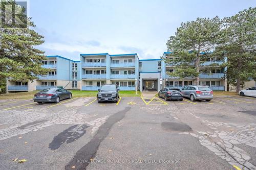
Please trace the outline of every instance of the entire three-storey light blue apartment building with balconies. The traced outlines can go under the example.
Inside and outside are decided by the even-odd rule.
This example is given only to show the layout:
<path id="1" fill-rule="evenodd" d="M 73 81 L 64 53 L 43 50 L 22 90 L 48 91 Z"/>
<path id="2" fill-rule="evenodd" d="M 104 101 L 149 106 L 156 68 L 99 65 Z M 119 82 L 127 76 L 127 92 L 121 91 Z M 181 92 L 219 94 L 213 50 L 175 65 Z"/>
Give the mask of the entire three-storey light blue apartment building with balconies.
<path id="1" fill-rule="evenodd" d="M 164 52 L 163 58 L 172 59 L 170 52 Z M 225 59 L 209 58 L 202 63 L 208 67 L 211 63 L 223 63 Z M 98 90 L 104 84 L 116 84 L 120 90 L 159 91 L 164 87 L 182 88 L 195 85 L 193 77 L 181 80 L 170 77 L 169 72 L 175 65 L 166 64 L 162 59 L 141 59 L 135 54 L 110 55 L 80 54 L 80 61 L 73 61 L 61 56 L 47 56 L 42 67 L 50 68 L 47 75 L 40 75 L 33 82 L 14 82 L 7 80 L 7 91 L 33 91 L 53 87 L 66 89 Z M 207 85 L 212 90 L 227 90 L 225 69 L 215 67 L 210 72 L 200 72 L 200 85 Z"/>

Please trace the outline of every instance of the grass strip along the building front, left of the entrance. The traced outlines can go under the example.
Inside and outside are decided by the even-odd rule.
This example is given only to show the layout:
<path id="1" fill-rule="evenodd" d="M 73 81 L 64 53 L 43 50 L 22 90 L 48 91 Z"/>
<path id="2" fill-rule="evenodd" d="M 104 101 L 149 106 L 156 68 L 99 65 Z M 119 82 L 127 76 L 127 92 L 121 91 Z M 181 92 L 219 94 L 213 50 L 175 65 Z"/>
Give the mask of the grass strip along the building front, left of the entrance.
<path id="1" fill-rule="evenodd" d="M 80 90 L 70 90 L 73 94 L 73 97 L 96 97 L 98 91 L 80 91 Z M 29 92 L 17 92 L 17 93 L 8 93 L 1 94 L 0 100 L 13 100 L 13 99 L 33 99 L 34 94 L 37 91 L 29 91 Z M 141 96 L 141 92 L 138 91 L 138 95 L 135 94 L 135 91 L 120 91 L 120 96 L 123 97 L 134 97 Z"/>

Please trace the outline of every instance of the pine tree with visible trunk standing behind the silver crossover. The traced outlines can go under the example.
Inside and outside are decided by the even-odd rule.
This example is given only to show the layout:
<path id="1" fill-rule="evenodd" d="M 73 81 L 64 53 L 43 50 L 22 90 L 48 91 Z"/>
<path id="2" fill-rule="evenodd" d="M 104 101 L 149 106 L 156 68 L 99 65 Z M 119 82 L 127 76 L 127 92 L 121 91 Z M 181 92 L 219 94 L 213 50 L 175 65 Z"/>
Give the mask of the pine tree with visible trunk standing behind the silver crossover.
<path id="1" fill-rule="evenodd" d="M 166 44 L 174 59 L 166 58 L 165 63 L 175 65 L 174 72 L 169 75 L 181 79 L 195 77 L 196 85 L 199 85 L 201 70 L 219 66 L 215 63 L 205 68 L 202 63 L 212 57 L 220 29 L 221 20 L 218 16 L 181 23 L 175 36 L 170 36 Z"/>

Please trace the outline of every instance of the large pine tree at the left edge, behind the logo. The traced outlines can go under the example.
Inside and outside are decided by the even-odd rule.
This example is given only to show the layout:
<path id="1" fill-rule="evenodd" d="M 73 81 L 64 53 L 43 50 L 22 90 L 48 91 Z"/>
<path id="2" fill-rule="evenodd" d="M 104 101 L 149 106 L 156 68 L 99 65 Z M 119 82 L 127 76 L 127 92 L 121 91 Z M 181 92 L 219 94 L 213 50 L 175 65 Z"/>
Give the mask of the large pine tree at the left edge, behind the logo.
<path id="1" fill-rule="evenodd" d="M 5 10 L 5 16 L 1 15 L 0 28 L 0 79 L 12 79 L 13 81 L 33 81 L 37 75 L 45 75 L 49 71 L 41 67 L 41 60 L 45 59 L 43 51 L 35 46 L 44 43 L 44 37 L 33 29 L 35 25 L 24 13 L 20 13 L 18 19 L 24 23 L 20 25 L 18 19 L 10 25 L 12 9 L 5 4 L 15 5 L 14 1 L 2 1 L 1 13 Z M 4 7 L 4 8 L 3 8 Z M 18 6 L 16 6 L 18 8 Z M 24 12 L 24 8 L 22 8 Z M 3 22 L 4 21 L 4 22 Z"/>

